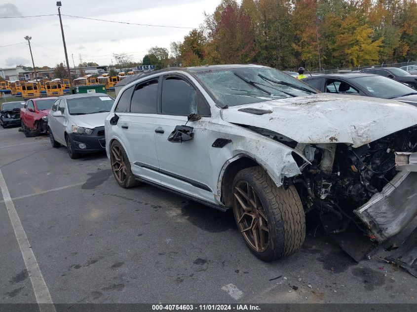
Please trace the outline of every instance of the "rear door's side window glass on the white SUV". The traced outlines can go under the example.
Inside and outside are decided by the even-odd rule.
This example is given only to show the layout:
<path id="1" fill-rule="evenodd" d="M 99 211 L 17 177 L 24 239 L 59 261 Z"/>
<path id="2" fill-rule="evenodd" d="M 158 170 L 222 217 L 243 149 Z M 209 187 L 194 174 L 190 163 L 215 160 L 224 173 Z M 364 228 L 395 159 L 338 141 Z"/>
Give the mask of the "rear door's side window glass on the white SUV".
<path id="1" fill-rule="evenodd" d="M 158 99 L 158 79 L 136 85 L 130 102 L 130 112 L 155 114 Z"/>

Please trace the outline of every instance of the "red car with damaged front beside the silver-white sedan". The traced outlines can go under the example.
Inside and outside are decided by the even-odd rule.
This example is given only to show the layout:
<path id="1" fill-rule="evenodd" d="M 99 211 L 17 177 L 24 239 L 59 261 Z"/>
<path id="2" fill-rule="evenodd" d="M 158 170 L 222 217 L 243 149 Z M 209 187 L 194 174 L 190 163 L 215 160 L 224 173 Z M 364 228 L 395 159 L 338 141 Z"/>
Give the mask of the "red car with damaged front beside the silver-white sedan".
<path id="1" fill-rule="evenodd" d="M 21 130 L 26 137 L 45 133 L 48 129 L 48 113 L 57 98 L 28 100 L 20 109 Z"/>

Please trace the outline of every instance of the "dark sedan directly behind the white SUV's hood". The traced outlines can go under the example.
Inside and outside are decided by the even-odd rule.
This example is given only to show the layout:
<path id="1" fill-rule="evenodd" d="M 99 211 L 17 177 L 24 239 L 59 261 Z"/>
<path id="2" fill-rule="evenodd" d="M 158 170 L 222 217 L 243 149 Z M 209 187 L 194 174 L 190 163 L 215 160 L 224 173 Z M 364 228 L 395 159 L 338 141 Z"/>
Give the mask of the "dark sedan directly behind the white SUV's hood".
<path id="1" fill-rule="evenodd" d="M 328 74 L 303 79 L 313 88 L 327 93 L 392 99 L 417 106 L 417 91 L 392 79 L 369 73 Z"/>

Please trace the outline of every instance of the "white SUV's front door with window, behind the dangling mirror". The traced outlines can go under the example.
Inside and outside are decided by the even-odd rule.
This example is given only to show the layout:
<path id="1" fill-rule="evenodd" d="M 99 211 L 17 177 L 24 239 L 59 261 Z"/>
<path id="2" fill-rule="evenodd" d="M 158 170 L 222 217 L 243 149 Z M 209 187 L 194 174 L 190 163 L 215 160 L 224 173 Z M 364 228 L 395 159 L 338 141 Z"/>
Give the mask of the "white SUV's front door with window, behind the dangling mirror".
<path id="1" fill-rule="evenodd" d="M 217 139 L 210 123 L 210 107 L 198 89 L 185 76 L 167 74 L 161 78 L 158 111 L 154 118 L 156 154 L 161 183 L 182 193 L 214 202 L 216 189 L 210 160 L 211 144 Z M 187 123 L 187 116 L 202 117 Z M 176 126 L 193 127 L 193 139 L 168 141 Z M 217 181 L 217 180 L 216 180 Z"/>

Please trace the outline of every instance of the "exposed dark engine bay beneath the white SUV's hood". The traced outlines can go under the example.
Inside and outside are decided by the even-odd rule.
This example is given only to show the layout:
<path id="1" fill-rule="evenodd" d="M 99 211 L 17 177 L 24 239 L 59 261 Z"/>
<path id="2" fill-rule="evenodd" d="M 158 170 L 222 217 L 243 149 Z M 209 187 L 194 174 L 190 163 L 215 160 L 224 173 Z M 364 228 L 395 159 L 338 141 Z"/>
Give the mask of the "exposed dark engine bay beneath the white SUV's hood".
<path id="1" fill-rule="evenodd" d="M 296 186 L 305 212 L 315 209 L 319 211 L 320 217 L 325 214 L 332 215 L 333 229 L 329 231 L 330 234 L 341 234 L 349 226 L 354 226 L 372 241 L 381 243 L 388 237 L 388 234 L 382 233 L 385 229 L 378 228 L 379 224 L 376 224 L 378 222 L 375 218 L 379 218 L 377 221 L 380 221 L 385 228 L 392 228 L 404 226 L 402 223 L 415 217 L 417 209 L 408 209 L 407 206 L 402 207 L 401 211 L 392 209 L 383 211 L 381 207 L 376 206 L 377 208 L 374 207 L 376 211 L 369 220 L 358 217 L 357 211 L 370 202 L 374 195 L 381 194 L 387 185 L 397 190 L 398 185 L 391 183 L 394 177 L 401 175 L 396 170 L 395 152 L 417 152 L 417 126 L 398 131 L 357 148 L 345 143 L 337 143 L 337 139 L 335 143 L 303 144 L 265 129 L 248 128 L 297 151 L 297 153 L 293 152 L 293 157 L 299 165 L 301 174 L 285 177 L 283 185 L 284 187 L 291 184 Z M 302 154 L 309 163 L 298 153 Z M 410 175 L 412 176 L 408 177 L 407 183 L 416 184 L 417 173 L 410 173 Z M 410 190 L 411 194 L 415 194 L 417 185 L 403 187 L 407 190 L 402 196 L 407 196 L 407 191 L 410 193 Z M 383 205 L 394 206 L 392 203 L 383 203 Z M 417 203 L 414 204 L 416 205 Z M 411 210 L 413 211 L 408 212 Z M 396 213 L 409 215 L 407 219 L 398 221 L 394 219 Z M 385 214 L 387 217 L 384 219 Z M 321 220 L 324 224 L 324 218 Z M 389 234 L 396 233 L 391 230 Z"/>

